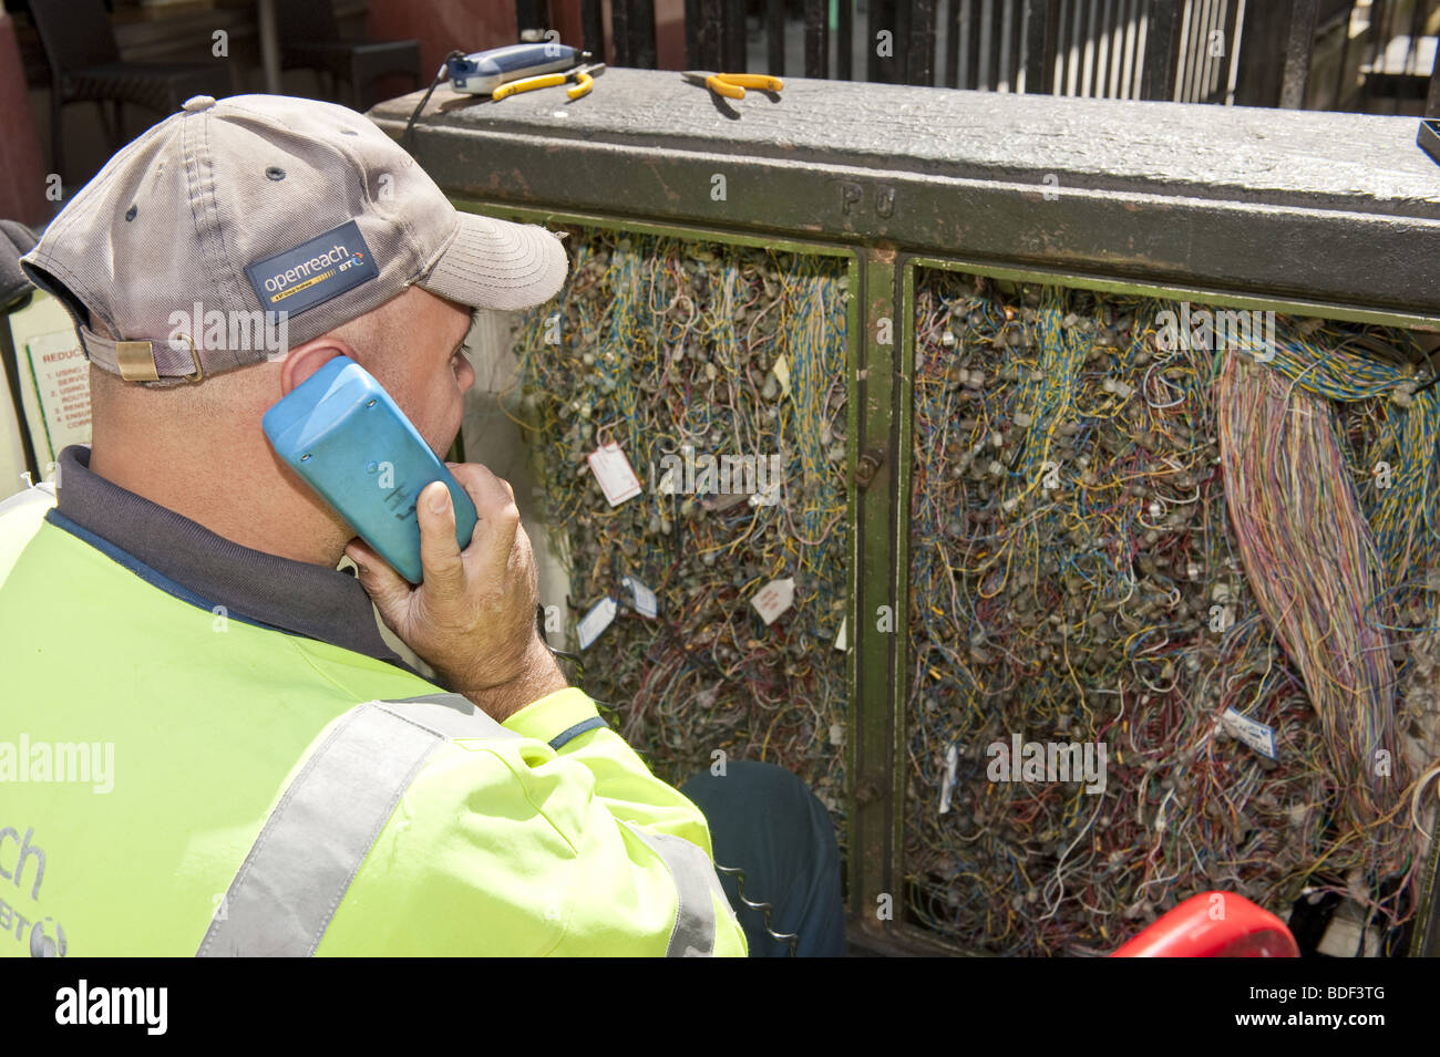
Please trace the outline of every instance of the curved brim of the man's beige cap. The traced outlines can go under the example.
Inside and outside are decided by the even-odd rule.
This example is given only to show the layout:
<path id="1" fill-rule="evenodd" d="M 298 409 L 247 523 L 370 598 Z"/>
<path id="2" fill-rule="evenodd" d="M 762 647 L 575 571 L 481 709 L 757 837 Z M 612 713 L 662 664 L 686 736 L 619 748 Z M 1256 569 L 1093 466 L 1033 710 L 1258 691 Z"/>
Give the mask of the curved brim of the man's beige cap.
<path id="1" fill-rule="evenodd" d="M 416 286 L 472 308 L 521 309 L 550 301 L 570 259 L 539 224 L 458 213 L 459 232 Z"/>

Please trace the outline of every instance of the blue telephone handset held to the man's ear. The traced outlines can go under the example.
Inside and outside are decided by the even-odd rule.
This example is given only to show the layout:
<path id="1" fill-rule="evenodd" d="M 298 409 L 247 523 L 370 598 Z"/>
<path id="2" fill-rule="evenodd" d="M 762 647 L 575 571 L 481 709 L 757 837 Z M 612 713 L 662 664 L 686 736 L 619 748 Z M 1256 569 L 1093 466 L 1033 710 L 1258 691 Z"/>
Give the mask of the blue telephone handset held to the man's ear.
<path id="1" fill-rule="evenodd" d="M 423 578 L 415 503 L 444 480 L 455 508 L 455 542 L 469 546 L 475 505 L 380 383 L 336 357 L 265 413 L 271 447 L 356 535 L 412 584 Z"/>

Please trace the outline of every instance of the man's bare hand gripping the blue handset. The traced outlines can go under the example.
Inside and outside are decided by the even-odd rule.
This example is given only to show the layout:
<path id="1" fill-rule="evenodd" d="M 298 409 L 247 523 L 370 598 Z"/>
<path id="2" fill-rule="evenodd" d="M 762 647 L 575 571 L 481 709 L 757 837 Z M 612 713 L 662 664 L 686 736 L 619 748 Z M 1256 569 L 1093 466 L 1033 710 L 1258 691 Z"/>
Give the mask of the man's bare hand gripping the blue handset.
<path id="1" fill-rule="evenodd" d="M 412 588 L 359 538 L 346 554 L 400 641 L 503 722 L 567 683 L 536 627 L 539 575 L 514 489 L 477 463 L 446 466 L 475 503 L 469 546 L 456 546 L 449 489 L 433 482 L 415 509 L 425 582 Z"/>

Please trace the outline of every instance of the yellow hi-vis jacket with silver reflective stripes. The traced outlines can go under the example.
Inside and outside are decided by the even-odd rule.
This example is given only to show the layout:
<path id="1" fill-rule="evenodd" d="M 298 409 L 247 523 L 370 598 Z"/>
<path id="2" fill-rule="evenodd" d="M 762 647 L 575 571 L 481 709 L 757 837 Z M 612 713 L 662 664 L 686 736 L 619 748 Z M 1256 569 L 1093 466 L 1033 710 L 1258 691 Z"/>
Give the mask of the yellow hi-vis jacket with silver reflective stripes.
<path id="1" fill-rule="evenodd" d="M 53 503 L 0 503 L 0 953 L 746 953 L 704 815 L 580 690 L 495 723 Z"/>

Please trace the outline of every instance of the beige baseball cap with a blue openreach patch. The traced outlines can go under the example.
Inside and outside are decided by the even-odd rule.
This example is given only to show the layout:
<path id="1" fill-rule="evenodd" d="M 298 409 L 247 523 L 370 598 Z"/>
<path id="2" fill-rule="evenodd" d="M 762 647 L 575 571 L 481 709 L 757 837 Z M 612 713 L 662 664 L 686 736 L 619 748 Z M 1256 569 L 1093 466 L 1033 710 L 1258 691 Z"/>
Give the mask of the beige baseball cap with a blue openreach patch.
<path id="1" fill-rule="evenodd" d="M 127 144 L 20 266 L 69 309 L 91 362 L 174 385 L 272 358 L 410 285 L 531 308 L 569 259 L 544 227 L 456 210 L 361 114 L 238 95 L 189 99 Z"/>

